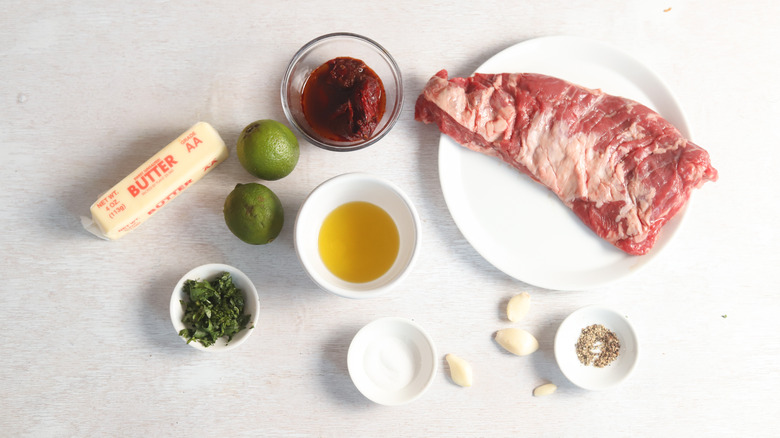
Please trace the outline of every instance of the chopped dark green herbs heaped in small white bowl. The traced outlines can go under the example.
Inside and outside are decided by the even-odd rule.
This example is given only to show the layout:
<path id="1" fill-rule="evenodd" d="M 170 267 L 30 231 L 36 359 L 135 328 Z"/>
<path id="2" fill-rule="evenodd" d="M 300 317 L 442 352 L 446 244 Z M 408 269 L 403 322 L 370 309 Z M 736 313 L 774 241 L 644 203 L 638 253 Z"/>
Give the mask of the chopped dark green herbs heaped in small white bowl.
<path id="1" fill-rule="evenodd" d="M 184 307 L 183 322 L 187 328 L 179 336 L 189 344 L 196 340 L 208 347 L 217 339 L 233 336 L 244 330 L 252 315 L 244 314 L 244 295 L 233 284 L 229 272 L 223 272 L 213 281 L 187 280 L 184 294 L 189 301 L 181 300 Z"/>

